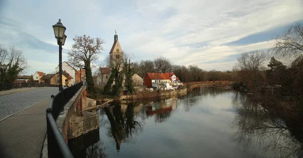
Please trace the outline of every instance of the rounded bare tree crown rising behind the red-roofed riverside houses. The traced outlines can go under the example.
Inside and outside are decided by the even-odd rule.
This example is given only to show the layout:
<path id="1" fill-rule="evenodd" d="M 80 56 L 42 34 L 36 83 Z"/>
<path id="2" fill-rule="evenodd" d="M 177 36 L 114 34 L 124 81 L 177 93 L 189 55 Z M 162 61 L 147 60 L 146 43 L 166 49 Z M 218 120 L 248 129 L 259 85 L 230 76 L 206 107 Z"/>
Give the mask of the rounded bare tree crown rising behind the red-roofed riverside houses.
<path id="1" fill-rule="evenodd" d="M 155 69 L 157 72 L 166 73 L 173 69 L 172 62 L 163 56 L 154 59 Z"/>

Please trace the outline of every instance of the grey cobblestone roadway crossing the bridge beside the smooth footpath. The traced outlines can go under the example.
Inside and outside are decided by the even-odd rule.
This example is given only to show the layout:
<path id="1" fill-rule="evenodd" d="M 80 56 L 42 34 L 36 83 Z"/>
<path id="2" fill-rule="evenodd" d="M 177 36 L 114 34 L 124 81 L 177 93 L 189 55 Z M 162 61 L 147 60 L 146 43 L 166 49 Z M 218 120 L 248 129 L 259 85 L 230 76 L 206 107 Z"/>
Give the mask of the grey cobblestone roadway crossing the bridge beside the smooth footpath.
<path id="1" fill-rule="evenodd" d="M 0 119 L 58 93 L 57 87 L 34 89 L 0 96 Z"/>

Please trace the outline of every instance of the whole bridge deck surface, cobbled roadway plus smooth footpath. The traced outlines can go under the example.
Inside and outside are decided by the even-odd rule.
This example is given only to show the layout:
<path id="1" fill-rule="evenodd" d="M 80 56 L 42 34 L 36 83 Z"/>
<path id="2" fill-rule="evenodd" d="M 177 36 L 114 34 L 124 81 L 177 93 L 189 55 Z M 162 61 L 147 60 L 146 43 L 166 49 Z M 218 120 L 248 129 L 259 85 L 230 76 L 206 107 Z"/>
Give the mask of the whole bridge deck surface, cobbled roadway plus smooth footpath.
<path id="1" fill-rule="evenodd" d="M 44 88 L 0 96 L 0 157 L 40 157 L 45 110 L 57 93 L 58 88 Z"/>

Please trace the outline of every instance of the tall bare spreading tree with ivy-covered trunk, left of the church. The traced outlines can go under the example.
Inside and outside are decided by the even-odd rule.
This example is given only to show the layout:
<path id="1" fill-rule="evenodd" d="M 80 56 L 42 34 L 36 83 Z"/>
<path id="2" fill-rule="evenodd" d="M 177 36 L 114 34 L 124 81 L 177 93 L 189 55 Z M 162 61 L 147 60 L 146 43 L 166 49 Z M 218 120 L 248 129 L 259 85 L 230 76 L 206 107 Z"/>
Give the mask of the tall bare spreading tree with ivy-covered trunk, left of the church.
<path id="1" fill-rule="evenodd" d="M 103 50 L 102 45 L 105 43 L 105 40 L 99 37 L 92 38 L 87 35 L 76 35 L 73 40 L 72 49 L 68 52 L 68 61 L 74 66 L 79 65 L 79 63 L 84 64 L 82 66 L 85 69 L 87 89 L 91 91 L 94 88 L 91 63 L 98 59 L 98 55 Z"/>

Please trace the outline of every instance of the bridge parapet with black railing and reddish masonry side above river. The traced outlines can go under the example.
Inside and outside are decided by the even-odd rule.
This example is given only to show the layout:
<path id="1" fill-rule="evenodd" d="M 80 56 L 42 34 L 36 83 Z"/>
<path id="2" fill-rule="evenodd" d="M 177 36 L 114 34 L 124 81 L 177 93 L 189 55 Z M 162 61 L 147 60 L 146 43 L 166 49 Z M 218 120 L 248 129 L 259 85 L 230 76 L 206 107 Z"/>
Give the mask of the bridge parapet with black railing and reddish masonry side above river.
<path id="1" fill-rule="evenodd" d="M 47 137 L 42 157 L 73 157 L 67 145 L 68 128 L 72 113 L 76 109 L 82 110 L 85 95 L 83 82 L 52 95 L 49 108 L 46 109 Z"/>

